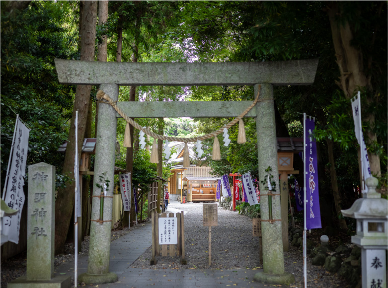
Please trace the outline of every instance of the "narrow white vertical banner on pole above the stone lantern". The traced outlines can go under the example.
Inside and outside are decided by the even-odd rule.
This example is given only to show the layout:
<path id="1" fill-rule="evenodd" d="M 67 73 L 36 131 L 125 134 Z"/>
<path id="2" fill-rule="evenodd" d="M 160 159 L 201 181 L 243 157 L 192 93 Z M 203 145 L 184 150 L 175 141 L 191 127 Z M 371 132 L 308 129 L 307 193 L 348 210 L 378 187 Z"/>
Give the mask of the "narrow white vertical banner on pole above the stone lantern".
<path id="1" fill-rule="evenodd" d="M 353 111 L 353 121 L 354 121 L 354 132 L 356 133 L 356 138 L 358 144 L 360 144 L 361 150 L 361 169 L 362 169 L 362 193 L 366 193 L 367 190 L 364 185 L 365 179 L 372 176 L 371 167 L 369 166 L 369 158 L 367 153 L 367 146 L 365 145 L 364 135 L 362 133 L 361 126 L 361 96 L 360 91 L 357 93 L 357 96 L 354 96 L 351 99 L 352 102 L 352 111 Z"/>

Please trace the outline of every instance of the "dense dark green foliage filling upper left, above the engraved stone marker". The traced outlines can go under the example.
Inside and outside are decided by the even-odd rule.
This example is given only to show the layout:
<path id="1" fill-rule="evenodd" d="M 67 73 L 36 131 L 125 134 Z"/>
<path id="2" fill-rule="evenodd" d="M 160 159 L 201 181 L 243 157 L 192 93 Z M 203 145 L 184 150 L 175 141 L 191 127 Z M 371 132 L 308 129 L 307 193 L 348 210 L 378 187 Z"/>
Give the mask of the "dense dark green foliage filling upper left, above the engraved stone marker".
<path id="1" fill-rule="evenodd" d="M 5 178 L 16 113 L 31 129 L 27 165 L 46 162 L 61 173 L 73 91 L 58 83 L 54 59 L 77 58 L 78 32 L 65 21 L 71 2 L 32 1 L 12 15 L 1 2 L 1 185 Z M 65 29 L 64 27 L 67 27 Z M 62 175 L 68 177 L 69 175 Z M 61 180 L 57 185 L 63 185 Z"/>

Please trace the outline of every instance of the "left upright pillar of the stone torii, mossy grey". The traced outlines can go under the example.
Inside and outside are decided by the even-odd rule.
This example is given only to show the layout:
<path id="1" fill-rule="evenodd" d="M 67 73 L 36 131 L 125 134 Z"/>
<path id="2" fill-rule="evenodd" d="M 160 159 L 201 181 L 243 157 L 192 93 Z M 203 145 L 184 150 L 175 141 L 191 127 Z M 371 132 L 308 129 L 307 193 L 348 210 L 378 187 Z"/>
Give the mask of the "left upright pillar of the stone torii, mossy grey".
<path id="1" fill-rule="evenodd" d="M 101 84 L 100 89 L 114 101 L 118 100 L 119 86 L 117 84 Z M 95 186 L 100 181 L 99 176 L 105 173 L 109 180 L 107 196 L 113 196 L 113 175 L 116 145 L 117 119 L 116 111 L 109 104 L 98 104 L 98 126 L 96 156 L 94 164 L 93 196 L 101 194 Z M 113 198 L 93 197 L 91 219 L 100 217 L 100 199 L 104 201 L 103 220 L 112 220 Z M 79 275 L 78 280 L 86 284 L 103 284 L 117 281 L 117 275 L 109 273 L 111 222 L 90 222 L 89 260 L 87 273 Z"/>

